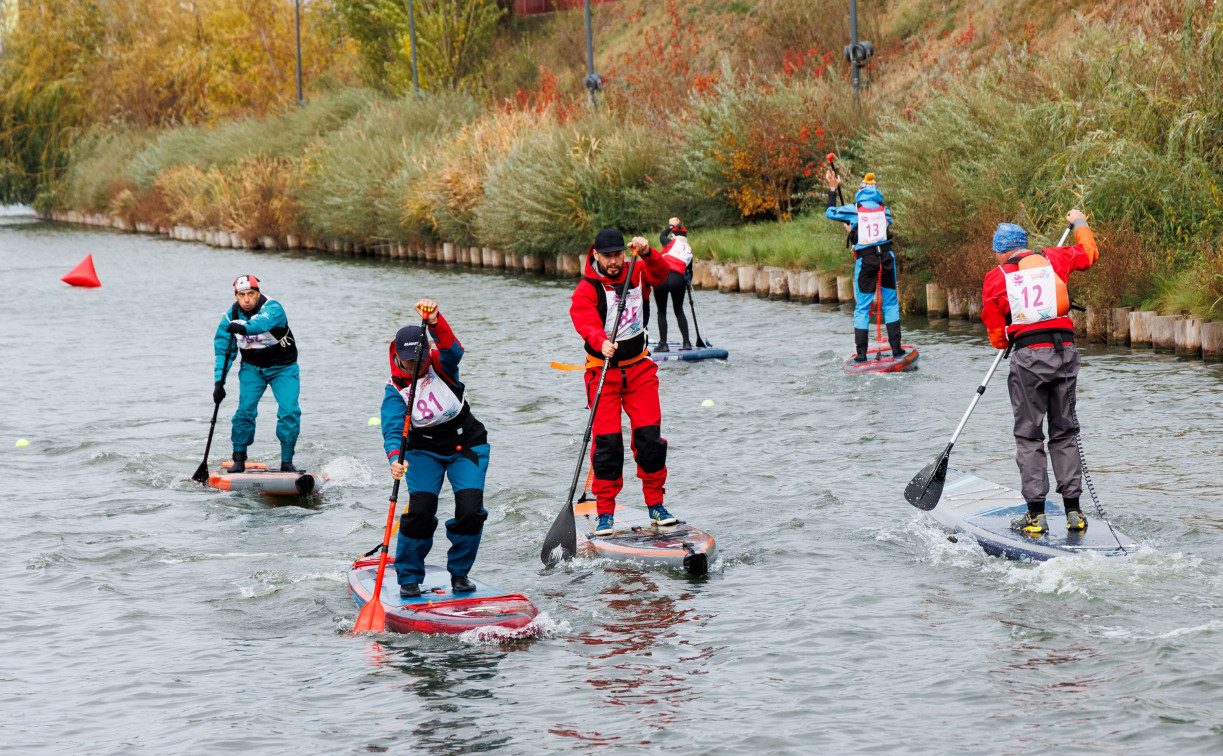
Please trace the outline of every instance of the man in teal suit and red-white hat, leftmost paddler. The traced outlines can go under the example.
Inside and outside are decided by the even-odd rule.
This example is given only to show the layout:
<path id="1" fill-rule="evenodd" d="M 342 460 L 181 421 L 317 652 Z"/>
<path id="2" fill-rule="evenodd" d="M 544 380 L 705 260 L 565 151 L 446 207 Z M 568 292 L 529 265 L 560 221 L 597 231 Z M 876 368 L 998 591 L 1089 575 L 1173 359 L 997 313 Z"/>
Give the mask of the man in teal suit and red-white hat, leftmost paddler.
<path id="1" fill-rule="evenodd" d="M 276 439 L 280 442 L 280 471 L 302 472 L 294 467 L 294 449 L 301 431 L 302 411 L 297 406 L 301 378 L 297 372 L 297 343 L 289 328 L 289 317 L 280 302 L 259 292 L 259 279 L 240 275 L 234 281 L 234 306 L 221 316 L 213 339 L 216 367 L 213 380 L 213 401 L 225 399 L 226 355 L 237 345 L 242 357 L 238 371 L 237 412 L 230 428 L 234 442 L 234 465 L 229 472 L 246 471 L 246 450 L 254 442 L 254 420 L 259 399 L 268 387 L 276 398 Z"/>

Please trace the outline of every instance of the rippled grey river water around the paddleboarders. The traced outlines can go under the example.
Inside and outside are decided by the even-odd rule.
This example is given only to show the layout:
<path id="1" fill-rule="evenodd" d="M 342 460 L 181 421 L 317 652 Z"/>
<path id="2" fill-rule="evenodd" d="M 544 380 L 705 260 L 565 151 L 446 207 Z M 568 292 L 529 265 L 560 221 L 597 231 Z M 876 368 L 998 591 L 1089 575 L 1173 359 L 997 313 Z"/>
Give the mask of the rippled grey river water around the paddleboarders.
<path id="1" fill-rule="evenodd" d="M 1223 749 L 1223 367 L 1085 350 L 1088 461 L 1146 548 L 1015 564 L 901 497 L 989 365 L 978 325 L 907 322 L 921 369 L 849 377 L 846 313 L 698 292 L 731 360 L 662 371 L 668 505 L 718 537 L 718 564 L 545 571 L 586 420 L 580 373 L 549 368 L 581 360 L 572 281 L 0 223 L 7 752 Z M 87 253 L 103 287 L 61 284 Z M 334 478 L 311 505 L 190 480 L 242 273 L 298 339 L 297 461 Z M 493 449 L 473 575 L 532 598 L 533 639 L 347 634 L 346 568 L 390 491 L 367 420 L 426 296 Z M 954 464 L 1016 486 L 1009 416 L 999 377 Z M 279 459 L 274 418 L 269 391 L 253 460 Z"/>

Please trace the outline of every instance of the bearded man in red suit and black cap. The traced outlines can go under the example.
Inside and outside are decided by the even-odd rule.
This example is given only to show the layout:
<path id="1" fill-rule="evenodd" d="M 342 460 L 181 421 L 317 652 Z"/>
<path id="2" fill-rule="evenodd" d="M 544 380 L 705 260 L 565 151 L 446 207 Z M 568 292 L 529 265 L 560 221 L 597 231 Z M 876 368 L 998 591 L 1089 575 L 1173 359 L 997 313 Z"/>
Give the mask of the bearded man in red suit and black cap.
<path id="1" fill-rule="evenodd" d="M 596 536 L 610 536 L 614 527 L 615 498 L 624 487 L 624 437 L 620 413 L 629 415 L 632 428 L 632 455 L 637 477 L 656 525 L 675 525 L 676 520 L 663 506 L 667 484 L 667 439 L 662 437 L 662 410 L 658 402 L 658 366 L 646 350 L 643 319 L 643 289 L 658 286 L 670 272 L 663 256 L 649 247 L 641 236 L 629 246 L 640 258 L 634 265 L 632 280 L 627 278 L 624 235 L 615 229 L 603 229 L 586 254 L 586 272 L 574 291 L 569 317 L 586 343 L 586 400 L 594 401 L 599 372 L 608 371 L 594 413 L 594 447 L 591 466 L 594 471 L 592 491 L 597 499 L 598 524 Z M 625 290 L 627 290 L 625 292 Z M 619 328 L 615 319 L 621 292 L 627 297 Z M 616 340 L 610 340 L 612 332 Z"/>

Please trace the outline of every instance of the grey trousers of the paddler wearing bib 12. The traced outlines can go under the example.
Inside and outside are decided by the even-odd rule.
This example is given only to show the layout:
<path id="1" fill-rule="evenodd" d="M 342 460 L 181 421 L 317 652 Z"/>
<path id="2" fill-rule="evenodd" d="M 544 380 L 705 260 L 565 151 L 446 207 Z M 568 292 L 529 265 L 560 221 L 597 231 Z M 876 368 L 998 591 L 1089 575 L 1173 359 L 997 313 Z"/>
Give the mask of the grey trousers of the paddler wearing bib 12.
<path id="1" fill-rule="evenodd" d="M 1010 356 L 1007 389 L 1015 412 L 1015 462 L 1025 502 L 1044 502 L 1049 472 L 1044 458 L 1044 432 L 1049 418 L 1049 456 L 1058 478 L 1058 493 L 1076 499 L 1082 493 L 1082 467 L 1075 448 L 1075 387 L 1079 383 L 1079 350 L 1066 345 L 1016 349 Z"/>

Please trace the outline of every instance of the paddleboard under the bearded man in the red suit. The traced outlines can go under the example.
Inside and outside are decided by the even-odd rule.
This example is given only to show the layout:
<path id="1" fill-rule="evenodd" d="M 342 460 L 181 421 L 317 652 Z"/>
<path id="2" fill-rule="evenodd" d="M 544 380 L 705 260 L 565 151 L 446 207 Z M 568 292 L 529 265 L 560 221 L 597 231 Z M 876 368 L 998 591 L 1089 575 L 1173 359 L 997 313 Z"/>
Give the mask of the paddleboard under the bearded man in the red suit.
<path id="1" fill-rule="evenodd" d="M 713 536 L 682 520 L 676 525 L 656 526 L 651 524 L 645 505 L 629 508 L 616 504 L 614 516 L 615 533 L 596 536 L 596 503 L 574 504 L 577 548 L 604 559 L 684 570 L 689 575 L 704 575 L 718 555 Z"/>

